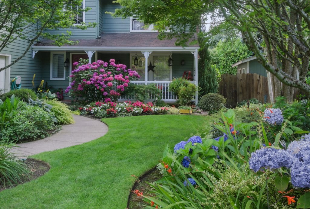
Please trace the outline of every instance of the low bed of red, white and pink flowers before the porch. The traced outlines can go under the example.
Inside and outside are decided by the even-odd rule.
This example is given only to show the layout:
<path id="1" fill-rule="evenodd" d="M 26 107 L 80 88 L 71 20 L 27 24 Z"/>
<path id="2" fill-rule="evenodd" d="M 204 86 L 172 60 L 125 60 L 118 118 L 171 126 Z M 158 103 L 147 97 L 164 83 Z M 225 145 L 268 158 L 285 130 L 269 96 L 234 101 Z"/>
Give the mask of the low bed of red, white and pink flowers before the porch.
<path id="1" fill-rule="evenodd" d="M 159 115 L 168 114 L 168 107 L 155 107 L 153 103 L 136 101 L 116 102 L 95 102 L 92 105 L 80 107 L 81 114 L 91 114 L 97 118 L 122 117 L 137 115 Z"/>

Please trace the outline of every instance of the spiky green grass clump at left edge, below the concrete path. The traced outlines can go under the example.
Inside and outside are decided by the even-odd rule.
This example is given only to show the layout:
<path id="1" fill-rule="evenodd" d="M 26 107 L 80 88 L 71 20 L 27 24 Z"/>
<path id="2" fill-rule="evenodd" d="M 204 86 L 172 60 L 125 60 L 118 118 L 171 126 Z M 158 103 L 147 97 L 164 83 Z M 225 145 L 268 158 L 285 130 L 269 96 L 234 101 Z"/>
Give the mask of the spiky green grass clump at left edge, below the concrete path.
<path id="1" fill-rule="evenodd" d="M 12 186 L 29 176 L 26 165 L 10 149 L 6 144 L 0 145 L 0 183 L 3 186 Z"/>

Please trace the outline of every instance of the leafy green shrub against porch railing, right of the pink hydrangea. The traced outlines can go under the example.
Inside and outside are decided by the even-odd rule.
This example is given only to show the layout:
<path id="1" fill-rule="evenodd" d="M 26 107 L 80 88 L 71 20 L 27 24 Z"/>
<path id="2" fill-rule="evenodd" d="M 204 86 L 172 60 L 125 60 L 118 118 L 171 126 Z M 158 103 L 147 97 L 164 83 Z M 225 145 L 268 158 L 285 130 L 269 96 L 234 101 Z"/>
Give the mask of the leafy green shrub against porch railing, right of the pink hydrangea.
<path id="1" fill-rule="evenodd" d="M 129 84 L 126 91 L 127 96 L 133 96 L 136 100 L 146 102 L 152 95 L 154 98 L 161 98 L 162 92 L 154 83 L 148 85 Z"/>

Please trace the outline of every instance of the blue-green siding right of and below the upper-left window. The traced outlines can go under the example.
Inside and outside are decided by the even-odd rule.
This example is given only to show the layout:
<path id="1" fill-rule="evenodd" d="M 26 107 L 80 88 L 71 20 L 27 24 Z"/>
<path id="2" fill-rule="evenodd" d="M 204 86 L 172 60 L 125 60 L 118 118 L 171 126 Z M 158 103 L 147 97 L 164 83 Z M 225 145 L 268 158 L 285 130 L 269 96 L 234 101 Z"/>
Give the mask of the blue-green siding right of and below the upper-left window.
<path id="1" fill-rule="evenodd" d="M 85 23 L 98 23 L 97 11 L 98 11 L 98 0 L 85 0 L 85 7 L 91 8 L 85 12 Z M 98 26 L 97 26 L 98 27 Z M 97 38 L 98 28 L 87 28 L 81 30 L 77 28 L 61 28 L 59 30 L 46 30 L 51 34 L 66 33 L 67 30 L 72 32 L 71 38 Z"/>

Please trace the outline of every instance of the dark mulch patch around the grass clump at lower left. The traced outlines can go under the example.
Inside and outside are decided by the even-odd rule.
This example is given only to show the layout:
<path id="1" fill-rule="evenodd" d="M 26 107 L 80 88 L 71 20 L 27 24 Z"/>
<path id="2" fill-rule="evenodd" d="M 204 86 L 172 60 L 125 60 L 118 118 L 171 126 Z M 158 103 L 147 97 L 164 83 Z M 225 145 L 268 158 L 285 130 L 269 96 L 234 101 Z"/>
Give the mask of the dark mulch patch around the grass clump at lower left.
<path id="1" fill-rule="evenodd" d="M 37 159 L 33 159 L 33 158 L 27 158 L 24 162 L 27 165 L 27 167 L 29 168 L 30 174 L 29 174 L 29 177 L 24 177 L 22 179 L 22 181 L 19 184 L 17 184 L 17 185 L 29 182 L 29 181 L 31 181 L 33 179 L 36 179 L 36 178 L 38 178 L 40 176 L 43 176 L 50 169 L 50 165 L 48 163 L 42 161 L 42 160 L 37 160 Z M 2 190 L 15 187 L 17 185 L 13 185 L 13 186 L 6 185 L 6 186 L 3 186 L 2 184 L 0 184 L 0 192 Z"/>

